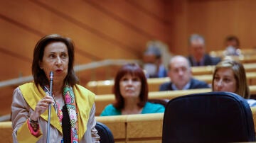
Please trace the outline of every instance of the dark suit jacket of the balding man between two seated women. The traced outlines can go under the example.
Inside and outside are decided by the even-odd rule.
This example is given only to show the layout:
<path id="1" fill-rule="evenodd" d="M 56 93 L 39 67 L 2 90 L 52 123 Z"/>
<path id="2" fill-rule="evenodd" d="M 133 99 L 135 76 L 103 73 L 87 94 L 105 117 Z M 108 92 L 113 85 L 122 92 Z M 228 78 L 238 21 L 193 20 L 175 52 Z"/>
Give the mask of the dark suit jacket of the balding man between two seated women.
<path id="1" fill-rule="evenodd" d="M 161 84 L 159 91 L 174 91 L 173 88 L 171 88 L 171 82 L 166 82 L 164 84 Z M 189 89 L 197 89 L 197 88 L 210 88 L 208 84 L 205 81 L 198 81 L 197 79 L 191 79 L 191 85 L 189 86 Z"/>

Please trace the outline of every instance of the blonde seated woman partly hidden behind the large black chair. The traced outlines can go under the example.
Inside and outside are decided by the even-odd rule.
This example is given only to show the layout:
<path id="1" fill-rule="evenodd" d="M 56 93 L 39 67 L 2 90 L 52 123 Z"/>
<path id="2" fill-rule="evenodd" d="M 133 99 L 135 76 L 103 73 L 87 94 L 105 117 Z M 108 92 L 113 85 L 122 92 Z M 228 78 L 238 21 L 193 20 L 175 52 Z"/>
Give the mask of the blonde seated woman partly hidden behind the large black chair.
<path id="1" fill-rule="evenodd" d="M 240 62 L 225 59 L 219 62 L 213 72 L 213 91 L 229 91 L 237 93 L 246 99 L 251 107 L 256 106 L 256 100 L 250 99 L 250 89 L 247 86 L 245 68 Z"/>

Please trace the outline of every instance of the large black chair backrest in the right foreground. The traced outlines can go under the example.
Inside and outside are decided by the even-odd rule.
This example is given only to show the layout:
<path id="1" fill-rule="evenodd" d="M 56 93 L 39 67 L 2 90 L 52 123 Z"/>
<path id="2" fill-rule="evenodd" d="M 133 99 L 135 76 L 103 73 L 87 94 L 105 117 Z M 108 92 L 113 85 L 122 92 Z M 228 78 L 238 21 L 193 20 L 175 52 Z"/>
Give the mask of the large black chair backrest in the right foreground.
<path id="1" fill-rule="evenodd" d="M 252 111 L 230 92 L 195 93 L 166 105 L 163 143 L 255 141 Z"/>

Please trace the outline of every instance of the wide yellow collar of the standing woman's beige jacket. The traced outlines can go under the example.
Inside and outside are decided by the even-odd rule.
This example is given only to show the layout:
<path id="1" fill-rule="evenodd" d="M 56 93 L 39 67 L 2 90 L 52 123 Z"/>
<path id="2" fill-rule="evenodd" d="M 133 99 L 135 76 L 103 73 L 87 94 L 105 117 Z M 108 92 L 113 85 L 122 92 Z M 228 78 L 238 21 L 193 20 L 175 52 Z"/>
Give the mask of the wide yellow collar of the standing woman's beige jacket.
<path id="1" fill-rule="evenodd" d="M 45 96 L 43 88 L 41 88 L 41 86 L 38 86 L 37 88 L 36 84 L 33 82 L 23 84 L 19 86 L 19 88 L 21 89 L 25 101 L 33 110 L 35 110 L 38 101 Z M 87 130 L 87 122 L 90 118 L 90 110 L 95 101 L 95 95 L 79 85 L 73 86 L 73 91 L 75 93 L 75 102 L 77 103 L 78 108 L 78 139 L 80 140 Z M 51 110 L 54 111 L 53 106 L 51 107 Z M 47 110 L 41 114 L 41 118 L 46 121 L 48 120 Z M 63 134 L 57 114 L 50 114 L 50 125 L 53 125 L 53 127 Z"/>

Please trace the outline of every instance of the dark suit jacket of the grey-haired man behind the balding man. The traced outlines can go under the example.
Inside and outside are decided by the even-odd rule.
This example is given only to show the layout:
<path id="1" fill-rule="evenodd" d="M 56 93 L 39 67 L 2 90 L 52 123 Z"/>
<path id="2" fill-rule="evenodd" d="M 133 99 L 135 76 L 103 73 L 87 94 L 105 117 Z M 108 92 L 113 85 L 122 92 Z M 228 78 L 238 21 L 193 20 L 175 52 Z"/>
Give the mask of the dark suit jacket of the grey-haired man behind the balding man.
<path id="1" fill-rule="evenodd" d="M 203 66 L 216 65 L 221 60 L 220 57 L 210 57 L 210 55 L 208 55 L 208 54 L 205 54 L 203 56 L 203 59 L 204 59 Z M 191 63 L 192 67 L 198 66 L 198 65 L 194 65 L 192 56 L 188 56 L 188 61 Z"/>

